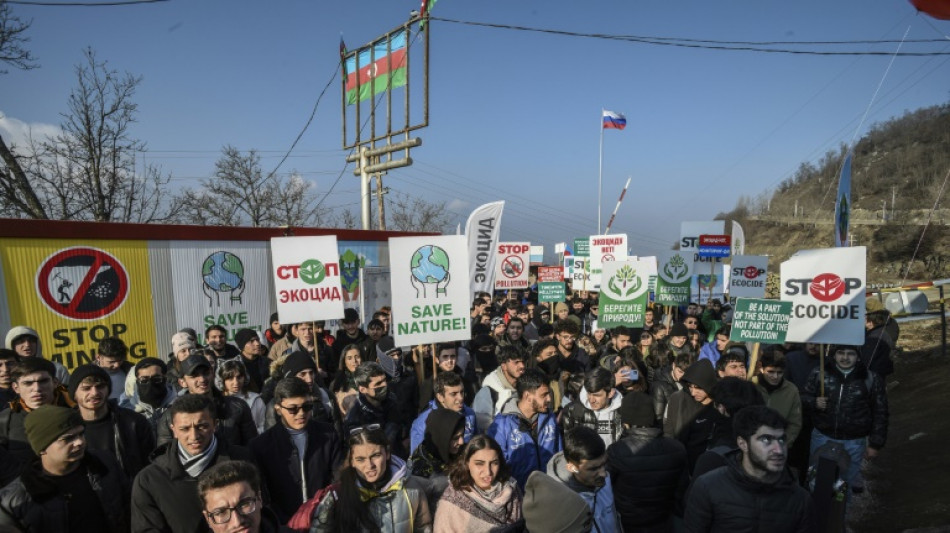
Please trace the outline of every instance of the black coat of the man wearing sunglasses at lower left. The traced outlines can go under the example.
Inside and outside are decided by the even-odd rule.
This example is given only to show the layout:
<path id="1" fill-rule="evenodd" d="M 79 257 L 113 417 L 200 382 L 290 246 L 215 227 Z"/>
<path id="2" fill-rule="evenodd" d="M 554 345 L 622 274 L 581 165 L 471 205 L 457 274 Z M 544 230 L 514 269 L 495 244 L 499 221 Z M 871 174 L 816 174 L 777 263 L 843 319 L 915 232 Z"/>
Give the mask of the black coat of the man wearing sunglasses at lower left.
<path id="1" fill-rule="evenodd" d="M 281 523 L 286 523 L 297 508 L 333 481 L 343 460 L 343 443 L 333 426 L 311 420 L 305 429 L 307 448 L 303 461 L 283 423 L 274 425 L 248 445 L 270 493 L 270 506 Z"/>

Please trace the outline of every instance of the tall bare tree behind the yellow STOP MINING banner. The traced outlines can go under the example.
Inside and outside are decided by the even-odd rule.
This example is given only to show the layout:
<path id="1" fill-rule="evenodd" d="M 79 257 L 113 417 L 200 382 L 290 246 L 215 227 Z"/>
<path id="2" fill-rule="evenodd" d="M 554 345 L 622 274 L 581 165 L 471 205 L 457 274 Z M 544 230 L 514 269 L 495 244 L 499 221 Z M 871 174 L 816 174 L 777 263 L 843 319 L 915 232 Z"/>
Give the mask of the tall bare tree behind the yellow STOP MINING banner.
<path id="1" fill-rule="evenodd" d="M 0 203 L 24 218 L 160 222 L 177 207 L 163 201 L 169 176 L 136 168 L 144 143 L 131 136 L 140 77 L 120 74 L 84 51 L 60 133 L 30 138 L 22 153 L 0 139 Z"/>

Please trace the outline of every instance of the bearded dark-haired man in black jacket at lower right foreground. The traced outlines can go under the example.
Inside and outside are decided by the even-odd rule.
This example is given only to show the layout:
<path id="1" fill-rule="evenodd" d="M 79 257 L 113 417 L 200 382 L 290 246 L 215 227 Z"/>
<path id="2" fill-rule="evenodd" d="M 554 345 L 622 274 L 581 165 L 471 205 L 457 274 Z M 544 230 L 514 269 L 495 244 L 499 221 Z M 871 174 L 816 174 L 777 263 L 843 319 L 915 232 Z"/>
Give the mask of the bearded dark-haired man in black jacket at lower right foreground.
<path id="1" fill-rule="evenodd" d="M 687 532 L 817 530 L 811 494 L 785 464 L 785 419 L 759 405 L 733 416 L 739 449 L 727 465 L 693 482 L 686 501 Z"/>

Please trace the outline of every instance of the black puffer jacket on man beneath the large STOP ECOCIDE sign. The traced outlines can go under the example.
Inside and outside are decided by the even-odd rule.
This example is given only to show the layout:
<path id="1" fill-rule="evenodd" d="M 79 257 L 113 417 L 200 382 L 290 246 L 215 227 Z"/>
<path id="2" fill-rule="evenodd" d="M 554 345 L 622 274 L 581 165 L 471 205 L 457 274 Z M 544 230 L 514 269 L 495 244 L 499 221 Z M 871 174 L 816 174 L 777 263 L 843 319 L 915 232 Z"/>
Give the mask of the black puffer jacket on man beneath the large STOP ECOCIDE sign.
<path id="1" fill-rule="evenodd" d="M 815 406 L 815 399 L 821 393 L 818 375 L 818 369 L 812 371 L 802 393 L 802 405 L 811 415 L 815 429 L 832 439 L 867 437 L 868 446 L 876 450 L 883 448 L 887 441 L 888 418 L 884 380 L 860 363 L 847 376 L 833 363 L 826 365 L 828 408 L 819 410 Z"/>

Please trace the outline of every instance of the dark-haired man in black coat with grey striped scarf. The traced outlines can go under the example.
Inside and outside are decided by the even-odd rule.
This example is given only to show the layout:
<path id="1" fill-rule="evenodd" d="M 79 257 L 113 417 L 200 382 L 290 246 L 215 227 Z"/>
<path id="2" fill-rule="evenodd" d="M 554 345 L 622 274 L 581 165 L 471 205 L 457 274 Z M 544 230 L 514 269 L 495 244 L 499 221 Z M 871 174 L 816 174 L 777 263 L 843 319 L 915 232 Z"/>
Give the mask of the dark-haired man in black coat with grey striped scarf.
<path id="1" fill-rule="evenodd" d="M 202 507 L 195 497 L 197 478 L 208 468 L 231 460 L 249 461 L 250 453 L 215 436 L 211 398 L 186 394 L 166 412 L 174 440 L 152 454 L 152 464 L 132 485 L 132 531 L 205 531 Z"/>

